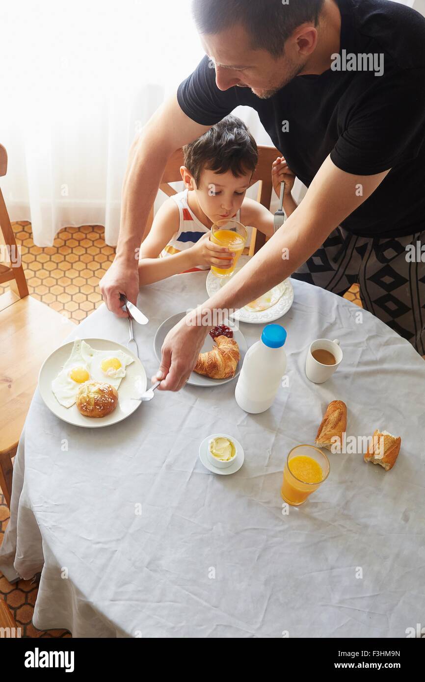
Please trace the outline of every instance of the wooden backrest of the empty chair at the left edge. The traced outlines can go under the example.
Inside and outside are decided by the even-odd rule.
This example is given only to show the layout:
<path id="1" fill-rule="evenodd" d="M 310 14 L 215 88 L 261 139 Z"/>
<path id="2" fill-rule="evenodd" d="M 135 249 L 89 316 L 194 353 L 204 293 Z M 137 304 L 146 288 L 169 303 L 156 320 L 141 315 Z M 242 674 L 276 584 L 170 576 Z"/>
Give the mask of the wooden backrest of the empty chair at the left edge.
<path id="1" fill-rule="evenodd" d="M 8 154 L 5 148 L 0 145 L 0 177 L 6 175 L 7 170 Z M 23 265 L 20 260 L 20 252 L 16 246 L 8 210 L 6 209 L 0 189 L 0 284 L 5 284 L 5 282 L 14 282 L 16 284 L 12 294 L 14 300 L 28 296 L 29 292 Z M 6 294 L 0 296 L 0 310 L 12 302 L 9 297 L 6 297 L 6 299 L 3 299 L 3 297 L 6 297 Z"/>

